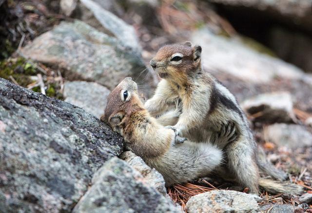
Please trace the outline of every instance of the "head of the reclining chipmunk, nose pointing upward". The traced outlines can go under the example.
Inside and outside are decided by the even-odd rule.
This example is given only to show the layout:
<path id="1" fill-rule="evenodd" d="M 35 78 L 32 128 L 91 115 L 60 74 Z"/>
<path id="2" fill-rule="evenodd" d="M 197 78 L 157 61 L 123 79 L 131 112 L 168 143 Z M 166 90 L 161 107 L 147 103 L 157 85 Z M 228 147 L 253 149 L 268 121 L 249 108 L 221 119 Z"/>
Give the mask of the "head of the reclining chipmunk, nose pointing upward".
<path id="1" fill-rule="evenodd" d="M 132 111 L 142 109 L 142 103 L 137 93 L 137 83 L 131 77 L 123 79 L 107 98 L 107 105 L 100 120 L 118 130 L 119 124 Z"/>

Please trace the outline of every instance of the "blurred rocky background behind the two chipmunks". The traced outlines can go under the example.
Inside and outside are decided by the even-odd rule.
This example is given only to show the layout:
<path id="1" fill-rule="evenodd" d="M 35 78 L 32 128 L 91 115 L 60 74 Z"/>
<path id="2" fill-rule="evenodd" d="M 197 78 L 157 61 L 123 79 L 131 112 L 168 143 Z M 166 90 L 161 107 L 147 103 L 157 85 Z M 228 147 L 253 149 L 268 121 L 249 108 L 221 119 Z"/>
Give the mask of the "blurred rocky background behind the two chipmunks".
<path id="1" fill-rule="evenodd" d="M 126 76 L 150 97 L 150 59 L 185 40 L 269 160 L 311 191 L 311 0 L 0 0 L 0 77 L 97 117 Z"/>

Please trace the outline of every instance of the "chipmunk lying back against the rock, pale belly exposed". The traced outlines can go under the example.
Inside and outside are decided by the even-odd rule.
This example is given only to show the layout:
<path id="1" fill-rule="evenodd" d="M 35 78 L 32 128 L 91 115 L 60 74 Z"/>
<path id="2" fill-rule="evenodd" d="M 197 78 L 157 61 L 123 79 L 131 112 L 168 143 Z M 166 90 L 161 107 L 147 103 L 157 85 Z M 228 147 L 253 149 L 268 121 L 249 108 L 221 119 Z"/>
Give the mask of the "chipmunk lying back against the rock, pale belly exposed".
<path id="1" fill-rule="evenodd" d="M 180 111 L 173 110 L 172 118 L 175 113 Z M 100 120 L 121 134 L 128 149 L 160 172 L 166 186 L 206 177 L 222 162 L 222 151 L 209 143 L 175 145 L 175 132 L 158 124 L 144 108 L 130 77 L 109 94 Z"/>

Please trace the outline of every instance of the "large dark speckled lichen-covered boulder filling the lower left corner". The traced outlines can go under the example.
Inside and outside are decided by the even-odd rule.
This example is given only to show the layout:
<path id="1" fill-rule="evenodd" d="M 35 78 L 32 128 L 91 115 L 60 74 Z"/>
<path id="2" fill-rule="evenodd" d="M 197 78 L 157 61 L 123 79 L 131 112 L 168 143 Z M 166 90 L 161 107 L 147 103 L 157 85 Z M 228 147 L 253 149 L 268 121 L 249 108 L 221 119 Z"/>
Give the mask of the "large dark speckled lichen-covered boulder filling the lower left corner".
<path id="1" fill-rule="evenodd" d="M 0 212 L 71 212 L 123 140 L 83 109 L 0 78 Z"/>

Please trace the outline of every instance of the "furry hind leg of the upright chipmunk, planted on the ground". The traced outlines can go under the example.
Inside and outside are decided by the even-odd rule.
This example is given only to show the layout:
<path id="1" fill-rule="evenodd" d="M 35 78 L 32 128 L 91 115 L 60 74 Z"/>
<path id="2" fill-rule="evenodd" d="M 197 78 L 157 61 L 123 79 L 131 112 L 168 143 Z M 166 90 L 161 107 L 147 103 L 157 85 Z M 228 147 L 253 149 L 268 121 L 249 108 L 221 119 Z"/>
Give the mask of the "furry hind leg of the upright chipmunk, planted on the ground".
<path id="1" fill-rule="evenodd" d="M 251 194 L 259 192 L 259 171 L 255 161 L 254 150 L 247 139 L 238 138 L 226 148 L 227 166 L 243 187 L 248 187 Z"/>

